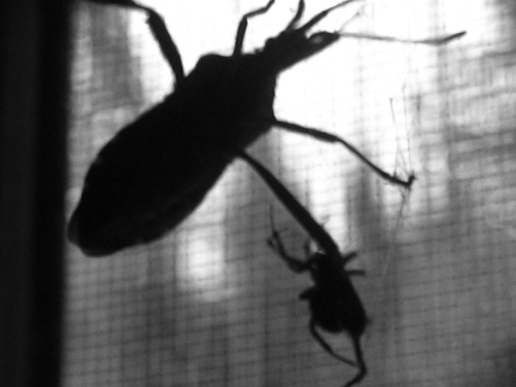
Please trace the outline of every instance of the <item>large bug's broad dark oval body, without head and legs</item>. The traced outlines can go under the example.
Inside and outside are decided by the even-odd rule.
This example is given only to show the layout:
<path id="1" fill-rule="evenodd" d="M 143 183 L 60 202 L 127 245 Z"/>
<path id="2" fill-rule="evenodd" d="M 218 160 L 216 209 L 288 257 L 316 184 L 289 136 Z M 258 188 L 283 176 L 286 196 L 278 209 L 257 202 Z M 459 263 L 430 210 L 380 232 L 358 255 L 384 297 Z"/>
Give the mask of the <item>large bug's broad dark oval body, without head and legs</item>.
<path id="1" fill-rule="evenodd" d="M 260 79 L 255 63 L 204 56 L 178 90 L 120 130 L 87 173 L 70 239 L 87 255 L 109 255 L 189 216 L 234 149 L 269 129 L 259 118 L 272 117 L 275 74 Z"/>

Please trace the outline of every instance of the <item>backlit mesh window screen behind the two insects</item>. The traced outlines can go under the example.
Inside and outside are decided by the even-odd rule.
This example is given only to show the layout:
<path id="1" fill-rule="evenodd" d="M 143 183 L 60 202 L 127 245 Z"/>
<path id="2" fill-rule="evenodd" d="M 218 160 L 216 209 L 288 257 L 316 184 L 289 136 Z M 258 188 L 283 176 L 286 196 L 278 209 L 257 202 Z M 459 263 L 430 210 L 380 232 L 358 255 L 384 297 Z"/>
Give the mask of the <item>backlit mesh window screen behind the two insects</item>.
<path id="1" fill-rule="evenodd" d="M 303 20 L 334 3 L 306 0 Z M 202 54 L 230 55 L 240 17 L 265 1 L 146 4 L 188 73 Z M 296 9 L 277 0 L 251 19 L 246 52 Z M 516 384 L 515 17 L 509 0 L 365 0 L 320 28 L 467 34 L 439 48 L 341 39 L 279 77 L 277 118 L 341 136 L 398 176 L 413 171 L 410 191 L 343 147 L 281 129 L 249 149 L 343 252 L 359 253 L 349 267 L 366 271 L 353 278 L 370 320 L 363 386 Z M 99 149 L 174 81 L 142 12 L 83 1 L 74 25 L 69 213 Z M 64 385 L 342 386 L 356 370 L 312 339 L 298 298 L 310 276 L 268 247 L 271 218 L 303 258 L 308 236 L 236 160 L 165 238 L 107 258 L 69 244 Z M 345 333 L 324 337 L 353 356 Z"/>

